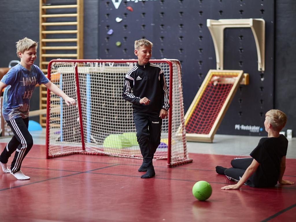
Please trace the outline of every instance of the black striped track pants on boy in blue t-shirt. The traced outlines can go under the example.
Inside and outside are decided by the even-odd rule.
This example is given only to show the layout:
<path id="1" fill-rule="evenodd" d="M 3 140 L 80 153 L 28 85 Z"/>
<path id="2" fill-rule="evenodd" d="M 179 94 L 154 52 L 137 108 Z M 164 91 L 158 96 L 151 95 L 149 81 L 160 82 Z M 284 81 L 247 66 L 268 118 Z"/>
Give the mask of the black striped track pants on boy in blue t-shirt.
<path id="1" fill-rule="evenodd" d="M 13 120 L 6 120 L 6 122 L 11 127 L 14 136 L 1 153 L 0 161 L 1 163 L 7 163 L 8 158 L 16 151 L 10 168 L 12 173 L 16 173 L 20 170 L 22 160 L 33 146 L 33 138 L 28 131 L 29 118 L 16 118 Z"/>

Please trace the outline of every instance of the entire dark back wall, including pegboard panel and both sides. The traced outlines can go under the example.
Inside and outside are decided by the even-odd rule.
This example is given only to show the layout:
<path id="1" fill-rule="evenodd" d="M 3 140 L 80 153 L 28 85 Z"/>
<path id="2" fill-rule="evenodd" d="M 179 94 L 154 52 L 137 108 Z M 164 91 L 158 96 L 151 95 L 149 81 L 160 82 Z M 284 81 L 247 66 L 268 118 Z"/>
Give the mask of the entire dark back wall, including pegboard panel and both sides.
<path id="1" fill-rule="evenodd" d="M 133 12 L 128 11 L 127 6 L 133 7 Z M 0 15 L 0 67 L 7 67 L 10 60 L 18 59 L 15 52 L 18 39 L 27 36 L 39 41 L 39 2 L 1 1 Z M 115 22 L 116 17 L 123 21 Z M 84 0 L 84 58 L 136 59 L 134 40 L 142 37 L 151 40 L 154 58 L 174 58 L 182 62 L 186 111 L 207 71 L 216 67 L 213 41 L 206 26 L 208 18 L 263 18 L 266 21 L 264 73 L 257 70 L 256 47 L 250 29 L 224 32 L 224 69 L 242 69 L 249 73 L 250 85 L 238 90 L 218 133 L 260 135 L 260 132 L 237 131 L 234 125 L 263 126 L 264 113 L 272 108 L 287 113 L 289 122 L 285 129 L 296 130 L 293 0 L 123 0 L 118 9 L 111 0 Z M 107 34 L 110 28 L 114 30 L 112 35 Z M 239 40 L 240 35 L 244 36 L 243 40 Z M 121 41 L 120 47 L 115 45 L 116 41 Z M 35 64 L 38 63 L 37 58 Z M 30 110 L 39 109 L 38 90 L 31 99 Z"/>

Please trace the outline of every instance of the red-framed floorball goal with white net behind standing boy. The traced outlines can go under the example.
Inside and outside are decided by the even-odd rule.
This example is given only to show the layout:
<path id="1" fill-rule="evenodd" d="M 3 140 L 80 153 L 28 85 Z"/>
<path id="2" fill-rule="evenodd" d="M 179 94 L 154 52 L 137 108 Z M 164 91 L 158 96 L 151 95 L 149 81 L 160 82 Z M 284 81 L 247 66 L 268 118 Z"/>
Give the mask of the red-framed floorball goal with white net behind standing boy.
<path id="1" fill-rule="evenodd" d="M 76 106 L 47 92 L 47 158 L 72 154 L 142 158 L 136 140 L 131 103 L 123 100 L 126 73 L 137 60 L 56 59 L 49 62 L 48 78 Z M 168 167 L 191 163 L 186 147 L 181 66 L 178 60 L 150 60 L 165 75 L 170 110 L 163 120 L 161 143 L 155 158 Z"/>

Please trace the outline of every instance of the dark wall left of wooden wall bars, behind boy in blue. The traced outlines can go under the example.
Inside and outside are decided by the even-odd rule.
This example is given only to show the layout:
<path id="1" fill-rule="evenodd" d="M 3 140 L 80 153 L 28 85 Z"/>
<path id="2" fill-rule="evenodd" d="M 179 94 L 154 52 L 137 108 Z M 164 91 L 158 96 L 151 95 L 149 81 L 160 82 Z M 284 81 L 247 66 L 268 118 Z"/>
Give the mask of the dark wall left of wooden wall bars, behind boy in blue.
<path id="1" fill-rule="evenodd" d="M 19 60 L 15 42 L 24 37 L 39 41 L 39 4 L 37 1 L 1 1 L 0 7 L 0 67 L 8 67 L 11 60 Z M 18 7 L 15 7 L 15 6 Z M 37 51 L 38 55 L 38 51 Z M 34 62 L 39 65 L 39 58 Z M 39 109 L 39 88 L 30 100 L 30 110 Z M 39 117 L 31 118 L 39 121 Z"/>

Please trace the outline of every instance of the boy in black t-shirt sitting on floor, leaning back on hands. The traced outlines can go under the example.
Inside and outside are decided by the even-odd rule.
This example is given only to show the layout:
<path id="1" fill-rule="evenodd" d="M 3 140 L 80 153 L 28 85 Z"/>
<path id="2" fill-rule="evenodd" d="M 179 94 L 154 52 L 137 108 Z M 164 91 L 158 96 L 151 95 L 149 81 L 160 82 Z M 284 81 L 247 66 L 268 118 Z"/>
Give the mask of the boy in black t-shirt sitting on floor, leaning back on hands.
<path id="1" fill-rule="evenodd" d="M 223 186 L 223 190 L 239 189 L 243 184 L 251 187 L 273 187 L 279 184 L 294 184 L 284 180 L 288 140 L 281 129 L 287 116 L 280 110 L 269 110 L 265 114 L 264 127 L 267 137 L 260 139 L 248 158 L 231 160 L 231 168 L 216 166 L 216 172 L 238 181 L 237 184 Z"/>

